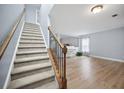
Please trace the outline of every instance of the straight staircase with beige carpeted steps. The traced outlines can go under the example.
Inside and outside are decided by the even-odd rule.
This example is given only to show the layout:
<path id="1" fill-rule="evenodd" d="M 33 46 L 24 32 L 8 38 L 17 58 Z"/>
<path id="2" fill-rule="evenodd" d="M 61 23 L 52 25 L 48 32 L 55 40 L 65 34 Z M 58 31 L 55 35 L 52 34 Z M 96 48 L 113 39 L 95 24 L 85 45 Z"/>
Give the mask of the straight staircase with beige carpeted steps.
<path id="1" fill-rule="evenodd" d="M 39 25 L 24 25 L 8 88 L 58 88 Z"/>

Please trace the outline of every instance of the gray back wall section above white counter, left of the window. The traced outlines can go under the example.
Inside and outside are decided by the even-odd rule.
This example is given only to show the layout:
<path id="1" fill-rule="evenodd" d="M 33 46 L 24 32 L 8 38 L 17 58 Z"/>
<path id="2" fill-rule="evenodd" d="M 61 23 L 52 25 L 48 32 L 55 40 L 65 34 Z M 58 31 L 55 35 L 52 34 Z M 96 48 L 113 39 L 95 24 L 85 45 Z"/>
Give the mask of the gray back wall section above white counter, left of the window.
<path id="1" fill-rule="evenodd" d="M 63 44 L 69 44 L 71 46 L 79 46 L 79 39 L 68 35 L 60 35 L 60 40 Z"/>

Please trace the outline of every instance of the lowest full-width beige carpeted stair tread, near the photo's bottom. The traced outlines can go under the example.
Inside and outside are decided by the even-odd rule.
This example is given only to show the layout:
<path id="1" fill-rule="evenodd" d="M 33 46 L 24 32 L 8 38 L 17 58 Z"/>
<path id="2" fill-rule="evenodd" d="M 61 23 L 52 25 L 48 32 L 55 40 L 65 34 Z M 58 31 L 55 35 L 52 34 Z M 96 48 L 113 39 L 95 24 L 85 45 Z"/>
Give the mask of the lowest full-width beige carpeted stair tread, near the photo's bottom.
<path id="1" fill-rule="evenodd" d="M 52 70 L 50 71 L 45 71 L 42 73 L 37 73 L 37 74 L 31 74 L 23 78 L 19 78 L 16 80 L 13 80 L 9 86 L 9 88 L 20 88 L 24 87 L 30 84 L 33 84 L 38 81 L 43 81 L 47 78 L 51 78 L 54 76 L 54 73 Z"/>

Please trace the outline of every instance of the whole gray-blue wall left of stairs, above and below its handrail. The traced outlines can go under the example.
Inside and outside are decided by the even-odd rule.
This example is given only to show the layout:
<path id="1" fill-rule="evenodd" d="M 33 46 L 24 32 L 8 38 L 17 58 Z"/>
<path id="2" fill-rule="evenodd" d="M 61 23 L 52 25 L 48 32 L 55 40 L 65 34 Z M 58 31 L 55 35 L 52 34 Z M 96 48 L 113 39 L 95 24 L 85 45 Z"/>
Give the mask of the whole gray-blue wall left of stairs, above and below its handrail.
<path id="1" fill-rule="evenodd" d="M 4 38 L 9 31 L 12 30 L 12 25 L 15 23 L 18 16 L 22 13 L 24 5 L 0 5 L 0 35 Z M 3 18 L 1 20 L 1 17 Z M 19 39 L 20 30 L 24 22 L 25 16 L 22 18 L 18 28 L 16 29 L 13 38 L 10 40 L 5 53 L 0 60 L 0 88 L 5 88 L 5 82 L 8 81 L 8 76 L 11 74 L 10 65 L 13 63 L 15 48 Z M 1 40 L 1 39 L 0 39 Z"/>

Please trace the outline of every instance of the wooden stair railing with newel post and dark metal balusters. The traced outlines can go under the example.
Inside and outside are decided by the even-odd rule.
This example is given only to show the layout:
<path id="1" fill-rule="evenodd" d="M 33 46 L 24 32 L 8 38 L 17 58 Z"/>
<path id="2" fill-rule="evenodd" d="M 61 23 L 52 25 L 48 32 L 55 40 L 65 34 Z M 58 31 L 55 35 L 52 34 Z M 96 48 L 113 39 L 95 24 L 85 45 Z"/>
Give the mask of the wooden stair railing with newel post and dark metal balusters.
<path id="1" fill-rule="evenodd" d="M 52 66 L 56 75 L 56 79 L 59 84 L 59 88 L 67 88 L 66 79 L 66 53 L 67 48 L 64 46 L 48 27 L 50 34 L 50 48 L 48 48 L 49 58 L 52 62 Z M 52 46 L 54 44 L 54 46 Z"/>

